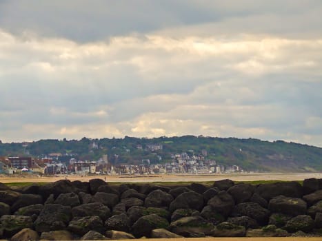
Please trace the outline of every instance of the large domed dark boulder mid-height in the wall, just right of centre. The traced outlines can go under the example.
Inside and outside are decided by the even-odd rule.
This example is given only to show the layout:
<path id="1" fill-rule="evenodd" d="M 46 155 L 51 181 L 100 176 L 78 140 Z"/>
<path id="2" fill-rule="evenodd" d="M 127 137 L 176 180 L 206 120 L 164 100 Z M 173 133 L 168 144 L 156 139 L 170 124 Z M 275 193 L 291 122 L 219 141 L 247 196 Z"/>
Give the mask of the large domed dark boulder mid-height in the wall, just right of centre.
<path id="1" fill-rule="evenodd" d="M 177 209 L 195 209 L 201 211 L 203 208 L 203 196 L 195 191 L 181 193 L 170 203 L 169 210 L 174 212 Z"/>

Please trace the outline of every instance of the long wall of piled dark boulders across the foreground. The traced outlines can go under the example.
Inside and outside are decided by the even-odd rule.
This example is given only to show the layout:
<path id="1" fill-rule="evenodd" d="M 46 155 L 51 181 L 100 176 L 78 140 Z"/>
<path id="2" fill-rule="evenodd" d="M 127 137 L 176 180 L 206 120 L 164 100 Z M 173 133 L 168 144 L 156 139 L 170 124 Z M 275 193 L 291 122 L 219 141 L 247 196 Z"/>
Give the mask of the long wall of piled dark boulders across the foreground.
<path id="1" fill-rule="evenodd" d="M 322 236 L 322 179 L 212 187 L 110 185 L 59 180 L 10 189 L 0 183 L 0 238 Z"/>

